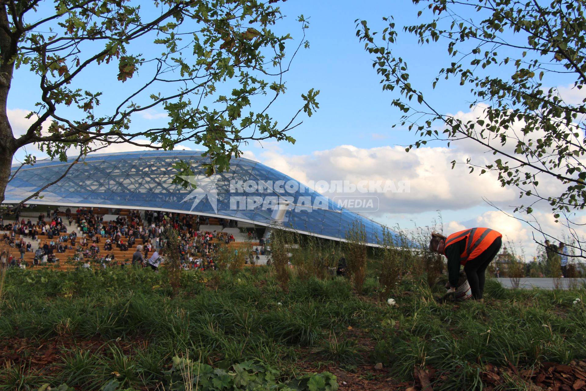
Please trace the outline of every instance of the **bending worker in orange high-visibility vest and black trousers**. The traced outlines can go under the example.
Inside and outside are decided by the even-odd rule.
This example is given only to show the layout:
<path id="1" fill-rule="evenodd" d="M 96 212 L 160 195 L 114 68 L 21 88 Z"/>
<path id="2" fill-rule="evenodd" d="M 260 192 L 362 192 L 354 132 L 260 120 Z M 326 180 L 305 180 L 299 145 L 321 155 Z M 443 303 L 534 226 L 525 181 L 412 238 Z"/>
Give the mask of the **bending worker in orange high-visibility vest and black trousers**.
<path id="1" fill-rule="evenodd" d="M 472 297 L 482 300 L 486 268 L 498 254 L 501 244 L 502 234 L 490 228 L 478 227 L 452 233 L 448 237 L 434 232 L 431 234 L 430 250 L 447 257 L 451 292 L 458 285 L 462 265 Z"/>

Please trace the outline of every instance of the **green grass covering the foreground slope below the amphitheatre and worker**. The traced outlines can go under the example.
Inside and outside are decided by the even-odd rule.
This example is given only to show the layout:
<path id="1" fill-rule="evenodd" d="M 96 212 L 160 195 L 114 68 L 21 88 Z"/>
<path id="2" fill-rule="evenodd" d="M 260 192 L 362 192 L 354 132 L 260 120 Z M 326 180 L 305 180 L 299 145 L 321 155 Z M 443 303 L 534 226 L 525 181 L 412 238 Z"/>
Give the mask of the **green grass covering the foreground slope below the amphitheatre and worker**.
<path id="1" fill-rule="evenodd" d="M 487 363 L 533 368 L 586 359 L 583 290 L 505 290 L 488 280 L 484 303 L 436 304 L 425 279 L 415 278 L 397 285 L 390 307 L 376 300 L 373 277 L 360 297 L 343 278 L 293 278 L 285 294 L 269 268 L 223 273 L 213 289 L 210 277 L 185 273 L 172 296 L 165 273 L 150 270 L 11 269 L 0 341 L 26 338 L 31 349 L 0 368 L 0 390 L 45 383 L 93 390 L 111 380 L 120 389 L 162 389 L 163 371 L 182 355 L 224 371 L 267 363 L 278 380 L 297 383 L 298 361 L 359 371 L 381 362 L 397 381 L 429 366 L 438 371 L 434 390 L 481 390 Z M 32 365 L 35 345 L 47 341 L 62 344 L 58 358 Z"/>

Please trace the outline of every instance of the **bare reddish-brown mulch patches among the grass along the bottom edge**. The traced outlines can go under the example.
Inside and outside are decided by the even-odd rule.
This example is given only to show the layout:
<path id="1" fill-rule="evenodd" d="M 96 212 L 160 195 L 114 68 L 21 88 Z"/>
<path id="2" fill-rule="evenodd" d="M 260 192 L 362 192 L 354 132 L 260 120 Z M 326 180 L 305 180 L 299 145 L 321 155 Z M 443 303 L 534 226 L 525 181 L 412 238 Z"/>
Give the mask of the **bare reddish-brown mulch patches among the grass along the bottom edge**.
<path id="1" fill-rule="evenodd" d="M 364 347 L 363 359 L 368 362 L 367 352 L 372 351 L 375 342 L 365 333 L 350 329 L 347 336 L 357 339 L 357 344 Z M 105 341 L 100 339 L 73 339 L 69 336 L 53 338 L 48 341 L 36 339 L 12 338 L 0 341 L 0 365 L 6 362 L 16 365 L 25 365 L 27 371 L 37 373 L 52 373 L 59 371 L 62 356 L 69 350 L 83 349 L 92 353 L 103 352 L 107 348 Z M 136 348 L 145 348 L 148 341 L 119 341 L 117 342 L 125 354 L 130 355 Z M 356 365 L 351 370 L 339 368 L 333 363 L 322 363 L 316 367 L 316 357 L 311 349 L 299 349 L 302 359 L 297 362 L 301 369 L 307 372 L 323 372 L 327 370 L 338 378 L 340 391 L 354 390 L 406 390 L 406 391 L 433 391 L 433 385 L 441 383 L 445 374 L 441 368 L 414 368 L 414 381 L 397 382 L 389 376 L 386 368 L 381 365 Z M 525 383 L 530 391 L 586 391 L 586 362 L 571 362 L 571 365 L 543 362 L 539 368 L 517 369 L 510 364 L 498 367 L 492 364 L 485 365 L 482 373 L 485 389 L 490 391 L 505 382 L 506 379 L 516 379 Z M 145 387 L 144 390 L 148 390 Z"/>

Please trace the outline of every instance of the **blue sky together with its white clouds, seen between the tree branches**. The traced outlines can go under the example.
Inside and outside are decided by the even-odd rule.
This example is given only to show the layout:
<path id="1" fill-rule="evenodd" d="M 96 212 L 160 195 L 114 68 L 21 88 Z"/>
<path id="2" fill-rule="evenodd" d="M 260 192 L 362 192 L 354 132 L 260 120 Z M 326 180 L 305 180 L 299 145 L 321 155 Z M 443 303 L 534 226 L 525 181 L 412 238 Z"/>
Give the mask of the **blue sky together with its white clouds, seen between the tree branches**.
<path id="1" fill-rule="evenodd" d="M 301 37 L 297 16 L 309 18 L 306 39 L 311 47 L 299 51 L 291 70 L 285 75 L 287 93 L 272 107 L 272 115 L 281 123 L 287 121 L 301 106 L 301 93 L 310 88 L 320 90 L 319 110 L 311 117 L 302 117 L 304 123 L 295 128 L 292 145 L 274 142 L 248 145 L 245 156 L 281 169 L 300 181 L 326 180 L 374 180 L 411 181 L 411 192 L 381 198 L 379 212 L 370 217 L 394 226 L 430 225 L 441 210 L 444 232 L 451 233 L 464 227 L 490 226 L 499 230 L 527 249 L 530 257 L 536 251 L 532 232 L 526 225 L 509 219 L 489 206 L 483 197 L 506 210 L 518 205 L 517 191 L 501 189 L 494 177 L 468 175 L 465 166 L 451 170 L 452 159 L 464 161 L 468 156 L 484 158 L 483 151 L 470 144 L 431 144 L 420 151 L 404 152 L 402 145 L 417 140 L 417 135 L 398 123 L 401 113 L 391 107 L 394 93 L 381 91 L 380 77 L 372 68 L 373 56 L 364 50 L 364 44 L 356 38 L 355 19 L 366 19 L 372 30 L 382 30 L 382 16 L 393 15 L 397 26 L 416 23 L 416 13 L 421 6 L 410 1 L 306 1 L 289 0 L 281 4 L 286 15 L 275 30 L 290 32 L 295 45 Z M 475 16 L 475 15 L 469 15 Z M 289 43 L 289 51 L 294 45 Z M 144 48 L 141 48 L 144 50 Z M 451 59 L 444 44 L 417 45 L 413 36 L 402 34 L 393 47 L 397 56 L 408 61 L 410 74 L 416 88 L 430 97 L 440 113 L 473 115 L 469 108 L 472 99 L 468 89 L 457 88 L 454 83 L 438 84 L 431 89 L 431 82 L 438 70 Z M 83 86 L 104 88 L 104 107 L 110 100 L 124 94 L 133 83 L 143 81 L 141 75 L 129 83 L 115 81 L 116 67 L 100 67 L 84 76 Z M 492 70 L 492 72 L 496 72 Z M 505 73 L 503 73 L 505 74 Z M 551 86 L 566 86 L 568 80 L 547 80 Z M 26 91 L 38 89 L 38 81 L 28 77 L 25 69 L 18 70 L 12 84 L 9 108 L 13 118 L 33 108 L 35 96 Z M 13 120 L 11 118 L 11 121 Z M 133 118 L 136 129 L 154 127 L 166 123 L 159 108 L 146 116 Z M 13 125 L 15 127 L 15 125 Z M 185 143 L 184 147 L 197 149 Z M 22 157 L 19 153 L 17 157 Z M 42 154 L 38 154 L 42 157 Z M 490 156 L 488 158 L 491 158 Z M 544 185 L 544 187 L 547 186 Z M 551 184 L 555 189 L 555 183 Z M 554 233 L 561 233 L 547 216 L 548 208 L 541 209 L 545 226 Z M 539 236 L 537 236 L 539 238 Z"/>

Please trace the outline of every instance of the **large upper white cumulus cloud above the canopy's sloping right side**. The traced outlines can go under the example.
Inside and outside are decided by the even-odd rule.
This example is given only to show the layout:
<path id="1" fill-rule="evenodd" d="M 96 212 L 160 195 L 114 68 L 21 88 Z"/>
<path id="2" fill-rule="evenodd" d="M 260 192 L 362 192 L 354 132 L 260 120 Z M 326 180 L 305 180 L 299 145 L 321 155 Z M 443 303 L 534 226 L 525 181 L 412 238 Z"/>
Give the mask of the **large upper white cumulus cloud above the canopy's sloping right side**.
<path id="1" fill-rule="evenodd" d="M 493 202 L 511 202 L 516 192 L 502 188 L 494 174 L 468 175 L 468 169 L 451 161 L 462 158 L 456 149 L 426 147 L 405 152 L 403 147 L 357 148 L 340 145 L 309 155 L 283 154 L 278 148 L 259 155 L 264 164 L 302 183 L 347 181 L 354 185 L 393 182 L 398 192 L 369 193 L 380 199 L 379 213 L 413 213 L 437 209 L 466 209 Z M 408 183 L 401 188 L 400 183 Z M 407 192 L 408 191 L 408 192 Z M 324 195 L 346 195 L 330 188 Z"/>

